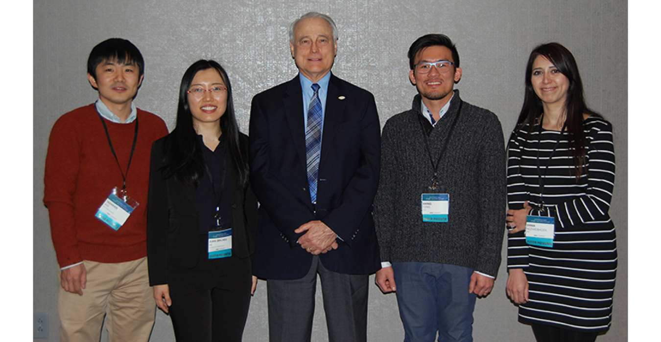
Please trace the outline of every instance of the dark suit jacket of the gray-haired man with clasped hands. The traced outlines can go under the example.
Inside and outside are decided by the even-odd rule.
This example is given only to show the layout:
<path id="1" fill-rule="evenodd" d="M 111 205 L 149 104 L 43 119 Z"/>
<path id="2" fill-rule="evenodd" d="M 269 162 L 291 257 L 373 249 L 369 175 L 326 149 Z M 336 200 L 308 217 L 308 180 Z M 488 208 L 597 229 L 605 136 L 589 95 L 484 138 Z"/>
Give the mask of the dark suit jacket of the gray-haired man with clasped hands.
<path id="1" fill-rule="evenodd" d="M 374 97 L 331 75 L 315 212 L 307 182 L 299 77 L 253 98 L 251 185 L 260 202 L 253 274 L 266 279 L 303 277 L 312 255 L 297 244 L 302 234 L 294 230 L 317 219 L 339 237 L 338 249 L 320 255 L 325 268 L 373 273 L 380 268 L 371 208 L 381 161 Z"/>

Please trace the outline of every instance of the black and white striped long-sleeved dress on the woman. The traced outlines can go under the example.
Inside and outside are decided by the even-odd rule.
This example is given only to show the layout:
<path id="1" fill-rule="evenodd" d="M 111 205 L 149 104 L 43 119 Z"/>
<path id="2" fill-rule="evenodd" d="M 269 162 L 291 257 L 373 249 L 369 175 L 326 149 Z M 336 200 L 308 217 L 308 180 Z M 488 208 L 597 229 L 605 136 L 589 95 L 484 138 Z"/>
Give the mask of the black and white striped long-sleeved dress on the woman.
<path id="1" fill-rule="evenodd" d="M 615 226 L 608 215 L 615 180 L 613 128 L 594 116 L 584 121 L 587 174 L 578 181 L 567 134 L 540 132 L 538 125 L 529 135 L 527 130 L 514 132 L 509 142 L 509 208 L 521 209 L 526 200 L 538 206 L 543 177 L 543 201 L 555 217 L 555 238 L 548 248 L 526 244 L 523 231 L 508 237 L 508 269 L 523 268 L 529 283 L 529 301 L 520 305 L 519 321 L 605 331 L 611 325 L 617 269 Z"/>

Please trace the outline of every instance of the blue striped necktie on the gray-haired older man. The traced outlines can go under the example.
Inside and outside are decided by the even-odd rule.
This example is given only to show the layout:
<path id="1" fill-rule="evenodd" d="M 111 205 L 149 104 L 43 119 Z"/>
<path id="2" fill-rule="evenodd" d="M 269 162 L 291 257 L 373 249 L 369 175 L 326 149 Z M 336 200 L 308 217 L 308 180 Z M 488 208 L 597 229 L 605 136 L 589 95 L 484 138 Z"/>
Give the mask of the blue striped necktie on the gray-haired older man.
<path id="1" fill-rule="evenodd" d="M 321 153 L 321 101 L 319 84 L 313 84 L 315 94 L 307 107 L 307 128 L 305 129 L 305 157 L 307 157 L 307 181 L 310 185 L 312 202 L 317 202 L 317 177 L 319 176 L 319 154 Z"/>

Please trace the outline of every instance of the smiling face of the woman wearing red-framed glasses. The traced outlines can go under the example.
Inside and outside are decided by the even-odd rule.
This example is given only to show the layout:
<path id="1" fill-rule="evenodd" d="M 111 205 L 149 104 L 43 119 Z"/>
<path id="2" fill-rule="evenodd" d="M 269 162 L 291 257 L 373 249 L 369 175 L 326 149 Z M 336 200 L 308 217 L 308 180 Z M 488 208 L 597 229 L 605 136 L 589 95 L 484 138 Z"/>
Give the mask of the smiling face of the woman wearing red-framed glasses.
<path id="1" fill-rule="evenodd" d="M 215 92 L 211 91 L 216 88 Z M 227 86 L 215 69 L 198 71 L 188 88 L 188 108 L 193 116 L 193 127 L 220 125 L 227 109 Z"/>

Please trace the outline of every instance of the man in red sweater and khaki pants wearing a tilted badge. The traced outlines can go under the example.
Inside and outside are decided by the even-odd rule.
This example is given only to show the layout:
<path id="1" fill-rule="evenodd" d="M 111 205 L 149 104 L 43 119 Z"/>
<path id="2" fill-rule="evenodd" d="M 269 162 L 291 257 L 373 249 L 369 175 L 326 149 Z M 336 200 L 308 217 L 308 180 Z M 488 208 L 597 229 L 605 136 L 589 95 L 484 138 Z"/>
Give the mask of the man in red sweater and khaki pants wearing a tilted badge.
<path id="1" fill-rule="evenodd" d="M 149 341 L 149 156 L 167 127 L 133 103 L 143 74 L 131 42 L 99 43 L 87 61 L 99 100 L 62 115 L 50 134 L 44 204 L 61 268 L 61 341 L 98 341 L 106 316 L 110 341 Z"/>

